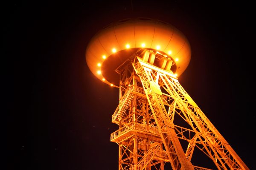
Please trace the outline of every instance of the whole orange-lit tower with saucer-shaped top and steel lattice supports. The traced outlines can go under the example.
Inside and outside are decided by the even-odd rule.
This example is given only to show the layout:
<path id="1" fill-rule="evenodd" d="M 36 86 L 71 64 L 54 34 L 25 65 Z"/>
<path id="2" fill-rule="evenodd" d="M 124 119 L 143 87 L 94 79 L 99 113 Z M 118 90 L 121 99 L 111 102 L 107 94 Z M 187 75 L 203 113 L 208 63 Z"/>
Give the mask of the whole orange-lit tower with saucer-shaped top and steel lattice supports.
<path id="1" fill-rule="evenodd" d="M 119 170 L 163 170 L 167 164 L 173 170 L 209 170 L 192 164 L 195 148 L 218 170 L 248 170 L 178 82 L 190 58 L 180 31 L 148 18 L 112 23 L 88 44 L 92 73 L 119 88 L 112 115 L 119 129 L 111 133 L 119 145 Z"/>

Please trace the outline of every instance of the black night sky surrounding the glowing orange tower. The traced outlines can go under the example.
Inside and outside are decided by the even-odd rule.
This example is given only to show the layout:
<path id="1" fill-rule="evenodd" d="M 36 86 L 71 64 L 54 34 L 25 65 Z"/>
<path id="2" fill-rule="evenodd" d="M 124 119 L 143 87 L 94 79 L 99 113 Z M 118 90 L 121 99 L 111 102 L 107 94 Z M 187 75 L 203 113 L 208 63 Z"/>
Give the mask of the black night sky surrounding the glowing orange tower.
<path id="1" fill-rule="evenodd" d="M 111 115 L 119 91 L 93 76 L 85 50 L 101 28 L 132 17 L 163 20 L 186 35 L 192 57 L 180 84 L 256 169 L 252 4 L 81 0 L 12 1 L 5 7 L 7 170 L 118 169 L 110 133 L 118 129 Z"/>

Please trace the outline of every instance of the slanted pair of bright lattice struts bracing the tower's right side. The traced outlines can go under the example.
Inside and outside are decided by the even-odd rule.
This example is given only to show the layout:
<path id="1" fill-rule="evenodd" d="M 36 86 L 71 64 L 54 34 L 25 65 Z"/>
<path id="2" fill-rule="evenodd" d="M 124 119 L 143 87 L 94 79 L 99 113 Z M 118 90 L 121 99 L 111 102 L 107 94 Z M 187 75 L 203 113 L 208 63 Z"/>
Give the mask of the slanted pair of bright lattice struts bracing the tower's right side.
<path id="1" fill-rule="evenodd" d="M 180 151 L 182 147 L 179 141 L 176 140 L 175 125 L 172 119 L 169 119 L 170 117 L 163 103 L 165 99 L 163 98 L 160 87 L 165 89 L 168 95 L 170 95 L 170 98 L 176 103 L 176 108 L 180 109 L 180 112 L 177 112 L 178 115 L 192 127 L 196 139 L 194 139 L 194 142 L 191 139 L 186 139 L 190 141 L 190 145 L 195 145 L 206 153 L 214 161 L 218 169 L 248 169 L 223 136 L 221 136 L 218 130 L 216 130 L 209 119 L 207 119 L 182 88 L 177 79 L 170 76 L 166 71 L 161 71 L 161 69 L 156 68 L 154 70 L 154 67 L 143 62 L 139 57 L 137 60 L 138 62 L 134 62 L 134 70 L 139 75 L 143 84 L 149 105 L 157 122 L 157 127 L 161 130 L 161 137 L 169 153 L 173 169 L 183 169 L 183 167 L 189 169 L 192 168 L 192 164 L 190 163 L 191 158 L 189 158 L 190 160 L 187 159 L 183 151 Z M 169 107 L 173 107 L 172 103 L 169 103 Z M 191 151 L 188 150 L 188 153 L 191 153 Z M 175 160 L 174 153 L 177 155 L 179 161 Z"/>

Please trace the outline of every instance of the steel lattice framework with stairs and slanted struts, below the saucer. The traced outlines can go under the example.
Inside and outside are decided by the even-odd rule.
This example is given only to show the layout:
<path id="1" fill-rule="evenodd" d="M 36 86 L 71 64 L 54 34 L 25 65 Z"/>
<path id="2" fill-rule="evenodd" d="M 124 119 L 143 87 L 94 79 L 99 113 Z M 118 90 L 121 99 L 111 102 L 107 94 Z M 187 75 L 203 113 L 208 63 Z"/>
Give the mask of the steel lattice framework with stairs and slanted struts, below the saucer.
<path id="1" fill-rule="evenodd" d="M 173 170 L 209 170 L 192 164 L 195 148 L 218 170 L 248 170 L 172 71 L 148 63 L 145 51 L 152 52 L 134 54 L 116 70 L 120 99 L 112 122 L 119 129 L 111 142 L 119 144 L 119 170 L 163 170 L 169 162 Z"/>

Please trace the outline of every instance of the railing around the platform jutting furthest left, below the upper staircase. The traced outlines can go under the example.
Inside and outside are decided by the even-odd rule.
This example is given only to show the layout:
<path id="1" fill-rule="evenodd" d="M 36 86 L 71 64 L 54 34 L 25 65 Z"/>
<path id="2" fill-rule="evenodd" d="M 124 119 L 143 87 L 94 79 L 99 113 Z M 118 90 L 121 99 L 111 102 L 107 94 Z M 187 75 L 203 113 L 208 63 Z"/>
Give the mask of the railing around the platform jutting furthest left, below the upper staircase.
<path id="1" fill-rule="evenodd" d="M 144 131 L 144 132 L 150 132 L 150 133 L 154 133 L 156 135 L 159 134 L 159 130 L 157 129 L 157 127 L 131 122 L 128 125 L 126 125 L 126 126 L 120 128 L 120 129 L 116 130 L 115 132 L 111 133 L 110 140 L 112 141 L 116 137 L 121 136 L 122 134 L 124 134 L 124 133 L 126 133 L 126 132 L 128 132 L 129 130 L 132 130 L 132 129 L 141 130 L 141 131 Z"/>

